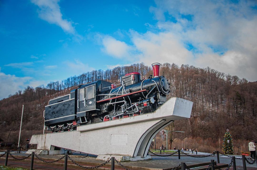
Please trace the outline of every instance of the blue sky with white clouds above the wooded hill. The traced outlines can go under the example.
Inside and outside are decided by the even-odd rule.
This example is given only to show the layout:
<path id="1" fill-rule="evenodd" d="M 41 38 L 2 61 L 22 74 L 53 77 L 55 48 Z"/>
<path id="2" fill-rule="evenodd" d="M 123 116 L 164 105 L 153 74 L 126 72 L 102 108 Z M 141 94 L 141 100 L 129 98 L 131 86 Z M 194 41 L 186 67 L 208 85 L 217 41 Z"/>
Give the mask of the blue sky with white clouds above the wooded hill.
<path id="1" fill-rule="evenodd" d="M 0 20 L 0 99 L 137 62 L 257 80 L 257 1 L 2 0 Z"/>

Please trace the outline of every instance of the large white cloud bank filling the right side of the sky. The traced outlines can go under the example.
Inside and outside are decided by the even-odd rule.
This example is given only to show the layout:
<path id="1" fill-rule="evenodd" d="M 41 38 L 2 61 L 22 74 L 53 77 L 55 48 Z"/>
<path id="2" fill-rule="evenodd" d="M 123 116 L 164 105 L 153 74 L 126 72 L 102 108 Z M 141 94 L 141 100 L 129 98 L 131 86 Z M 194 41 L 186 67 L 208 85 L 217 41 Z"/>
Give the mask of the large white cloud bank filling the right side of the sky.
<path id="1" fill-rule="evenodd" d="M 130 62 L 190 64 L 257 80 L 256 1 L 156 1 L 149 31 L 132 45 L 102 36 L 103 51 Z M 165 15 L 164 15 L 165 14 Z M 154 29 L 154 30 L 152 30 Z M 152 30 L 152 31 L 150 31 Z"/>

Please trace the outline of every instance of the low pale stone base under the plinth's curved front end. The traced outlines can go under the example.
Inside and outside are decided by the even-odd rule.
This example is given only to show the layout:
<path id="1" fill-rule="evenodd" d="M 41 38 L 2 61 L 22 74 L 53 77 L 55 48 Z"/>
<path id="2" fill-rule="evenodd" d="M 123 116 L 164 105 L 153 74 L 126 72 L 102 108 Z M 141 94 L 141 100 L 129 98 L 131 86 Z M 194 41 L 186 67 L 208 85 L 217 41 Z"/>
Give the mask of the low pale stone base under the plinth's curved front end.
<path id="1" fill-rule="evenodd" d="M 150 155 L 147 155 L 146 157 L 141 157 L 141 156 L 131 157 L 131 156 L 124 156 L 124 155 L 98 155 L 96 159 L 107 161 L 112 157 L 115 157 L 115 159 L 119 162 L 142 161 L 142 160 L 152 159 Z"/>

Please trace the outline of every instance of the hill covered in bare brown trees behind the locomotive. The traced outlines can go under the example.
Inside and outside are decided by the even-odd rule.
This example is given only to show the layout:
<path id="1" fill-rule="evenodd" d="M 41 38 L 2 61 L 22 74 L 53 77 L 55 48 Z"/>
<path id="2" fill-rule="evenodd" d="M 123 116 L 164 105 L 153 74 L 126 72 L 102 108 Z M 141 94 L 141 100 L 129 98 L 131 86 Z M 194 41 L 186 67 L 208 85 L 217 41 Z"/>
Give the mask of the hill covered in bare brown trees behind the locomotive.
<path id="1" fill-rule="evenodd" d="M 140 72 L 142 77 L 153 75 L 152 68 L 137 63 L 111 70 L 94 70 L 63 81 L 50 82 L 46 87 L 27 87 L 0 101 L 1 138 L 17 142 L 22 104 L 24 104 L 23 133 L 21 139 L 43 131 L 43 110 L 50 99 L 68 94 L 77 85 L 96 80 L 120 83 L 120 76 Z M 257 82 L 247 82 L 237 76 L 226 75 L 211 68 L 164 63 L 160 75 L 171 82 L 170 97 L 194 102 L 191 118 L 176 121 L 176 130 L 185 136 L 223 137 L 228 128 L 235 139 L 257 139 Z"/>

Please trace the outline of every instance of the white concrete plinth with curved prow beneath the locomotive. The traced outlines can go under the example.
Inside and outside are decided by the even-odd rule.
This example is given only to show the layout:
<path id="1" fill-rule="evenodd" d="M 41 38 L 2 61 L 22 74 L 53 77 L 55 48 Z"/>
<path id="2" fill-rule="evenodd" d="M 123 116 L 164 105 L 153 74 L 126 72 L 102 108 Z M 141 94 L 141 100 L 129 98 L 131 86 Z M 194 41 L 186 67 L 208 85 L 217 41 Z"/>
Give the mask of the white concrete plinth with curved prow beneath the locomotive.
<path id="1" fill-rule="evenodd" d="M 76 131 L 33 135 L 38 149 L 53 146 L 94 155 L 146 157 L 154 136 L 171 122 L 190 118 L 193 102 L 171 98 L 153 113 L 78 126 Z"/>

